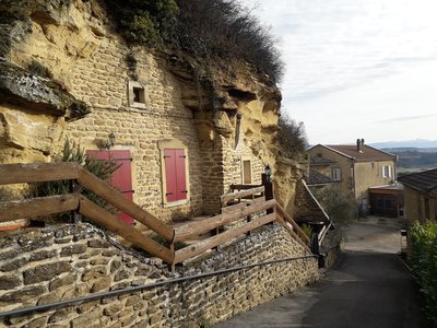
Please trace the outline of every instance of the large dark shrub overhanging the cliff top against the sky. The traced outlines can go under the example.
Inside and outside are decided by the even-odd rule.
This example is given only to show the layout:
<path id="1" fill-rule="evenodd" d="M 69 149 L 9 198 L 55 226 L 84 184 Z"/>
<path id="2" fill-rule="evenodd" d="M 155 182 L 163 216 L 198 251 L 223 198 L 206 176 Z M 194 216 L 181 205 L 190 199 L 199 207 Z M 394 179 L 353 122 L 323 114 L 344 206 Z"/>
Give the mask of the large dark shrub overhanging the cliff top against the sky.
<path id="1" fill-rule="evenodd" d="M 237 0 L 177 0 L 177 4 L 176 39 L 181 48 L 197 58 L 244 59 L 272 81 L 281 80 L 284 65 L 277 38 L 250 9 Z"/>

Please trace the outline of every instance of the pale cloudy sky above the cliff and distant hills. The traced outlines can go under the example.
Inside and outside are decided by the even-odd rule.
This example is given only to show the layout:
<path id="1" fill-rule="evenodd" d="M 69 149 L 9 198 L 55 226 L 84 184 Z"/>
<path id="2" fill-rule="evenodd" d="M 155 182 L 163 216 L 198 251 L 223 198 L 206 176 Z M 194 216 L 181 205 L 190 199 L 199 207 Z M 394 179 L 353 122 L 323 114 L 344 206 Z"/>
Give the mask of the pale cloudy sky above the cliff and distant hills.
<path id="1" fill-rule="evenodd" d="M 243 0 L 286 70 L 310 144 L 437 140 L 436 0 Z"/>

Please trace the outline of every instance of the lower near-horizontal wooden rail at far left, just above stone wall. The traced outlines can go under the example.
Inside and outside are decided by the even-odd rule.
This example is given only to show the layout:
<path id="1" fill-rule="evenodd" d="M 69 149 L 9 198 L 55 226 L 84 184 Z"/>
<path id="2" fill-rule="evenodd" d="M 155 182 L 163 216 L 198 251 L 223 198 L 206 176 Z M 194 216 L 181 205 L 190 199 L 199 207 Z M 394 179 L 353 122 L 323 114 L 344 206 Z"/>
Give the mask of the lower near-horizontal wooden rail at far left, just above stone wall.
<path id="1" fill-rule="evenodd" d="M 0 203 L 0 222 L 51 215 L 72 211 L 78 207 L 78 194 L 5 201 Z"/>

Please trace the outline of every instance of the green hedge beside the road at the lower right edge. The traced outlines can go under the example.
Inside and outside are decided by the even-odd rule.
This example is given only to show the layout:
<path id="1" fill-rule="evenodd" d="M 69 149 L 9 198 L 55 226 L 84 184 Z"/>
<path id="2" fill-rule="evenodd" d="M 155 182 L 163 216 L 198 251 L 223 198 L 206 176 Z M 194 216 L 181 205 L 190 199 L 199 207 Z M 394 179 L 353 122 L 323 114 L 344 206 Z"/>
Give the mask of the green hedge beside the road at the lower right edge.
<path id="1" fill-rule="evenodd" d="M 437 222 L 416 222 L 410 236 L 413 273 L 425 293 L 427 315 L 437 326 Z"/>

